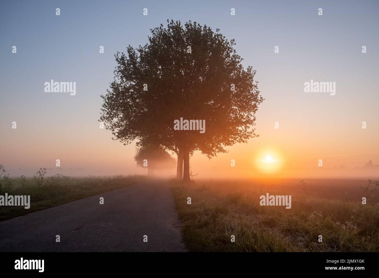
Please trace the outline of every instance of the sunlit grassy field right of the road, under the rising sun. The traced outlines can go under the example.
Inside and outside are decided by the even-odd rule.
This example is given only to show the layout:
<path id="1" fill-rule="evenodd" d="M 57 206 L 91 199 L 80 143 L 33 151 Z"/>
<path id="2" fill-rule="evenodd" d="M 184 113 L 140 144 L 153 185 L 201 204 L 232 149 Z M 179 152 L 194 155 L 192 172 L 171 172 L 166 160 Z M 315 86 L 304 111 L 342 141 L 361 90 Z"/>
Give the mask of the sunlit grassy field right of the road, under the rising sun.
<path id="1" fill-rule="evenodd" d="M 346 188 L 341 188 L 340 200 L 320 198 L 309 194 L 306 184 L 304 188 L 254 186 L 246 181 L 209 180 L 188 185 L 172 181 L 189 251 L 379 251 L 379 206 L 375 196 L 362 205 L 361 201 L 345 199 Z M 321 188 L 328 190 L 328 186 Z M 358 196 L 366 196 L 363 189 L 358 192 Z M 260 196 L 266 193 L 291 194 L 292 207 L 260 206 Z M 231 242 L 232 235 L 235 242 Z M 323 242 L 318 241 L 319 235 Z"/>

